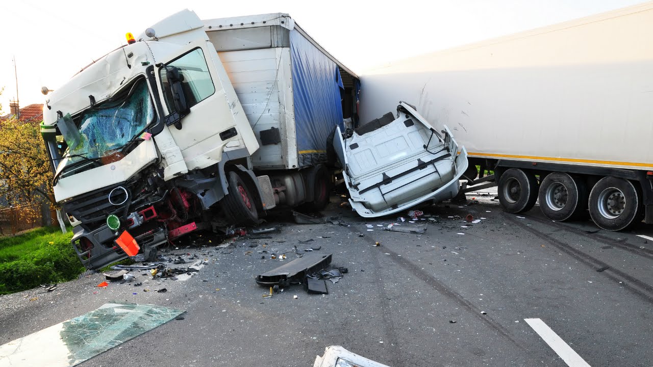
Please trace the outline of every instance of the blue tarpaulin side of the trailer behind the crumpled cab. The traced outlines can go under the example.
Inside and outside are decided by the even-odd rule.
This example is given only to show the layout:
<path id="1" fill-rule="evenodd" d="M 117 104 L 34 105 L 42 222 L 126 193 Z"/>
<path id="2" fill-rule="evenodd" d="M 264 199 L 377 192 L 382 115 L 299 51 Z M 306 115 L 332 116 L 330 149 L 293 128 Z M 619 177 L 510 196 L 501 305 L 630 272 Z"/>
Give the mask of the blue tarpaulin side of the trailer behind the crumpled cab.
<path id="1" fill-rule="evenodd" d="M 290 32 L 293 103 L 299 167 L 325 161 L 327 138 L 343 129 L 338 65 L 298 31 Z"/>

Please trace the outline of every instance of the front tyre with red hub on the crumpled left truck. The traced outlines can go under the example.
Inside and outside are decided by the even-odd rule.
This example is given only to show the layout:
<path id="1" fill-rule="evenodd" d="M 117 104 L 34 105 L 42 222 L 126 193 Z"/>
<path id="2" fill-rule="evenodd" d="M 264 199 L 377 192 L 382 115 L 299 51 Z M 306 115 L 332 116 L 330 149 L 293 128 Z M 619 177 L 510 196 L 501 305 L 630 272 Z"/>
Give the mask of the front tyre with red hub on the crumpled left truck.
<path id="1" fill-rule="evenodd" d="M 236 172 L 227 172 L 227 195 L 221 200 L 227 219 L 234 224 L 255 225 L 259 220 L 256 197 Z"/>

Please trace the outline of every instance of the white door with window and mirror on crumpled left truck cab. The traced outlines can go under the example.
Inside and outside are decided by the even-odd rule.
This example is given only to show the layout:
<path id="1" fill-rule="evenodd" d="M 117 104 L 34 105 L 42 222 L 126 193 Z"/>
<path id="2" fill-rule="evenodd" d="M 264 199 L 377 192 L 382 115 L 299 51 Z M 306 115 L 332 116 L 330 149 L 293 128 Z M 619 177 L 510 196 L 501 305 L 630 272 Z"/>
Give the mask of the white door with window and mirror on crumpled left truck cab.
<path id="1" fill-rule="evenodd" d="M 166 125 L 188 170 L 219 162 L 225 148 L 258 148 L 212 44 L 190 42 L 155 70 Z"/>

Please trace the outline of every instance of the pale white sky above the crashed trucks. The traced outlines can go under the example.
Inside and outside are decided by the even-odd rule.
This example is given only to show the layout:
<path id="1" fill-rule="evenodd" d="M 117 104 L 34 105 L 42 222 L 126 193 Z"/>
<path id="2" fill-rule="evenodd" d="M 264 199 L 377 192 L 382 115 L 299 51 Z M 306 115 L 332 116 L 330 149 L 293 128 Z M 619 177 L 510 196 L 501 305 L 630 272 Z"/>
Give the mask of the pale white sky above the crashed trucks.
<path id="1" fill-rule="evenodd" d="M 402 1 L 0 1 L 2 110 L 43 103 L 93 59 L 125 44 L 183 8 L 201 19 L 289 13 L 328 52 L 357 74 L 396 59 L 444 50 L 582 18 L 641 0 L 402 0 Z"/>

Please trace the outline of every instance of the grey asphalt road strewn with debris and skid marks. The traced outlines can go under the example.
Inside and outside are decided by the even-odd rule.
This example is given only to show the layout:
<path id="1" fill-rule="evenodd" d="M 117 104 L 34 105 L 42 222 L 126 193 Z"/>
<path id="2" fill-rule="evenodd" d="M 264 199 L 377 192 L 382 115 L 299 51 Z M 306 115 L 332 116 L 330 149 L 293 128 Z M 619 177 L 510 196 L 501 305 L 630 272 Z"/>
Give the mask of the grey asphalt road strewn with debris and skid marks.
<path id="1" fill-rule="evenodd" d="M 323 214 L 349 227 L 296 225 L 281 215 L 263 225 L 281 227 L 270 239 L 172 249 L 208 260 L 186 281 L 158 283 L 137 272 L 142 287 L 97 289 L 103 276 L 95 274 L 53 293 L 1 296 L 0 343 L 125 300 L 187 313 L 80 366 L 313 366 L 328 345 L 394 367 L 567 366 L 524 321 L 531 318 L 590 366 L 651 366 L 653 242 L 637 236 L 653 236 L 650 227 L 597 231 L 590 221 L 552 223 L 537 206 L 514 215 L 477 199 L 427 208 L 439 223 L 401 223 L 428 223 L 426 233 L 407 234 L 383 231 L 396 217 L 367 220 L 333 197 Z M 485 219 L 470 225 L 460 218 L 467 214 Z M 263 298 L 267 289 L 254 277 L 283 262 L 257 251 L 293 251 L 287 262 L 295 245 L 321 246 L 349 273 L 328 282 L 328 295 L 294 285 Z M 155 292 L 163 287 L 167 293 Z"/>

